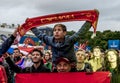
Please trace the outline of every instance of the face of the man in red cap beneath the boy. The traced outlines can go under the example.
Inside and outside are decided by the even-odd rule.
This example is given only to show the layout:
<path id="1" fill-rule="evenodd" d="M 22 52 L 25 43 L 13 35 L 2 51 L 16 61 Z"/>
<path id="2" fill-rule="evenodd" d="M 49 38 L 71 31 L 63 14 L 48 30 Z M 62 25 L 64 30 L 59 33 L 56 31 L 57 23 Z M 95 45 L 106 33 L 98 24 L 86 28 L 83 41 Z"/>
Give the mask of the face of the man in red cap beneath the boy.
<path id="1" fill-rule="evenodd" d="M 61 61 L 57 64 L 57 71 L 58 72 L 69 72 L 71 70 L 71 65 L 64 61 Z"/>

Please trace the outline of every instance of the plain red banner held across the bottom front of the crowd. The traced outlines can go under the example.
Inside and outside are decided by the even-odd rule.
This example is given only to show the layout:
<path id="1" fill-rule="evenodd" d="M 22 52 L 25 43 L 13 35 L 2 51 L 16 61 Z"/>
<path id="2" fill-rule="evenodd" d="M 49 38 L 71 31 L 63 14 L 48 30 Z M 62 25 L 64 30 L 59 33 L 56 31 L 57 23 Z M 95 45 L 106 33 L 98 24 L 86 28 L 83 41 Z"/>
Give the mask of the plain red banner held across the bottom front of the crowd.
<path id="1" fill-rule="evenodd" d="M 15 83 L 110 83 L 109 72 L 31 73 L 17 74 Z"/>

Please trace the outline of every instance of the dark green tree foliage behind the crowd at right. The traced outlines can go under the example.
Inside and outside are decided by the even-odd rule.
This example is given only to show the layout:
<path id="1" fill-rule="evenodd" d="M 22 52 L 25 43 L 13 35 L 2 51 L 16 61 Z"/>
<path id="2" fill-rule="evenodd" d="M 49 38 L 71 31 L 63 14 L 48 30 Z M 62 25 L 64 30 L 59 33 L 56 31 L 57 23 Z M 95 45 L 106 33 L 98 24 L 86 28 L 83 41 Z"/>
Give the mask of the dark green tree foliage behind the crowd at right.
<path id="1" fill-rule="evenodd" d="M 74 31 L 69 31 L 68 34 L 74 34 Z M 92 31 L 88 31 L 81 36 L 79 43 L 88 41 L 88 46 L 91 48 L 100 46 L 103 50 L 108 49 L 108 40 L 120 40 L 120 31 L 105 30 L 103 32 L 97 31 L 96 37 L 91 39 Z"/>

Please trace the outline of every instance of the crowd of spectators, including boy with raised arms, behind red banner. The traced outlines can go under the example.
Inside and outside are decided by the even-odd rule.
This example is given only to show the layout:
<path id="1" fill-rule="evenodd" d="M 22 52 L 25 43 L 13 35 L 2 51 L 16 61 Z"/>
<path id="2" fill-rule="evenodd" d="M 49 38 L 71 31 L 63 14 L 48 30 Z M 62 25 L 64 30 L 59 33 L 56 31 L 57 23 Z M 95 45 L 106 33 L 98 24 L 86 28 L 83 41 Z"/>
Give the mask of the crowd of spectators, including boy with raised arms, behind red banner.
<path id="1" fill-rule="evenodd" d="M 0 47 L 0 83 L 14 83 L 16 73 L 40 73 L 40 72 L 86 72 L 109 71 L 112 83 L 119 83 L 120 52 L 116 49 L 101 51 L 99 46 L 92 51 L 79 48 L 74 50 L 74 44 L 81 35 L 91 28 L 90 22 L 85 22 L 78 32 L 67 36 L 67 28 L 63 24 L 53 27 L 53 36 L 47 36 L 37 28 L 31 31 L 51 49 L 41 51 L 33 49 L 24 55 L 18 48 L 12 54 L 7 50 L 14 42 L 18 28 Z"/>

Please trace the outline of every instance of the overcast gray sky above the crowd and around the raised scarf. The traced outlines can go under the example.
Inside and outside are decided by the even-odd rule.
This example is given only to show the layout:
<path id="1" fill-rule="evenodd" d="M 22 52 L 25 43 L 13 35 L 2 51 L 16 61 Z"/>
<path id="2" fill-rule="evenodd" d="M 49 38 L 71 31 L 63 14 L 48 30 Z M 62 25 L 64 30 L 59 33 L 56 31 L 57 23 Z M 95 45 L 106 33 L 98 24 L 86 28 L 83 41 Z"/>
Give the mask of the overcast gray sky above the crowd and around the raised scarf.
<path id="1" fill-rule="evenodd" d="M 0 0 L 0 24 L 22 24 L 28 17 L 92 9 L 100 12 L 97 30 L 120 31 L 120 0 Z M 74 21 L 63 24 L 68 30 L 77 31 L 83 23 Z"/>

